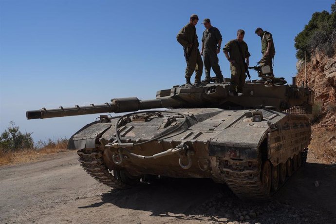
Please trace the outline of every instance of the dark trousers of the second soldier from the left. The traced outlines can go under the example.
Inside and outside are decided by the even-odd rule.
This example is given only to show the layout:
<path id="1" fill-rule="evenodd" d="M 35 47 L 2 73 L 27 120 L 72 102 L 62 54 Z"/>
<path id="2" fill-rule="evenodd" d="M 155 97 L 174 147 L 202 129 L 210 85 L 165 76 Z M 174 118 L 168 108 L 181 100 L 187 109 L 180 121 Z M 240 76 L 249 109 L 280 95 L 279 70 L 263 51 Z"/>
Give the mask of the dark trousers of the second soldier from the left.
<path id="1" fill-rule="evenodd" d="M 210 79 L 210 69 L 216 74 L 217 79 L 220 81 L 223 79 L 221 67 L 218 64 L 218 56 L 216 52 L 210 52 L 206 49 L 203 53 L 205 79 Z"/>

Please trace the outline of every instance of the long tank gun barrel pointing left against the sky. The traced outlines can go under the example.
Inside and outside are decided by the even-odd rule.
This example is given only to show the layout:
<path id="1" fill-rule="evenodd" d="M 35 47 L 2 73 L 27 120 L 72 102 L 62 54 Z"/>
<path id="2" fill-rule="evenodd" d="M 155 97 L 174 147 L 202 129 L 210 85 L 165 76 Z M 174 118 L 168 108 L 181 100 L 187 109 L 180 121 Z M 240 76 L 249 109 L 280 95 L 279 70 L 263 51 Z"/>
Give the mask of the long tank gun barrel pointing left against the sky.
<path id="1" fill-rule="evenodd" d="M 111 100 L 112 103 L 105 103 L 90 106 L 78 106 L 69 108 L 45 109 L 27 111 L 26 117 L 30 119 L 44 119 L 52 117 L 77 116 L 93 113 L 120 113 L 134 112 L 138 110 L 149 110 L 154 108 L 176 107 L 181 102 L 170 97 L 160 97 L 157 99 L 139 100 L 136 97 L 116 98 Z"/>

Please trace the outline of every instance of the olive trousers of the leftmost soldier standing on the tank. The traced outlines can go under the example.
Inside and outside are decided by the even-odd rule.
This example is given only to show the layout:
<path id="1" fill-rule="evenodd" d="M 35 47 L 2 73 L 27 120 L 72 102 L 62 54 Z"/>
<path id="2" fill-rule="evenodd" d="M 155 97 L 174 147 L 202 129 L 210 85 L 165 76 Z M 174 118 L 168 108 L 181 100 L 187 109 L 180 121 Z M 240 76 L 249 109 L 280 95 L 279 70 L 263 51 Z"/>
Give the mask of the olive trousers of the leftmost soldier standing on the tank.
<path id="1" fill-rule="evenodd" d="M 187 68 L 186 68 L 186 78 L 190 78 L 195 71 L 195 82 L 201 81 L 201 76 L 203 73 L 203 61 L 198 48 L 195 48 L 190 53 L 190 56 L 186 58 Z"/>

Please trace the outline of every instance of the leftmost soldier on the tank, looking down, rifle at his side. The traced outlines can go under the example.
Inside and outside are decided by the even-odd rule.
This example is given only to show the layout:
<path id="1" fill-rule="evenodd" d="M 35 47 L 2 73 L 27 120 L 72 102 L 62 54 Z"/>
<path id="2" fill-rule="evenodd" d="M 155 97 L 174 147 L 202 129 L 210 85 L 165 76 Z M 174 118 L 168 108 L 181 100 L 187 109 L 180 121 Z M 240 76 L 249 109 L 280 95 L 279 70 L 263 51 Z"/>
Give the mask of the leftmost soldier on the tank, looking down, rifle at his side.
<path id="1" fill-rule="evenodd" d="M 196 34 L 196 24 L 198 22 L 198 16 L 192 14 L 190 21 L 185 25 L 177 34 L 177 41 L 183 46 L 185 57 L 187 61 L 186 68 L 186 87 L 191 87 L 190 77 L 195 71 L 195 86 L 202 86 L 201 76 L 203 72 L 203 61 L 198 50 L 198 40 Z"/>

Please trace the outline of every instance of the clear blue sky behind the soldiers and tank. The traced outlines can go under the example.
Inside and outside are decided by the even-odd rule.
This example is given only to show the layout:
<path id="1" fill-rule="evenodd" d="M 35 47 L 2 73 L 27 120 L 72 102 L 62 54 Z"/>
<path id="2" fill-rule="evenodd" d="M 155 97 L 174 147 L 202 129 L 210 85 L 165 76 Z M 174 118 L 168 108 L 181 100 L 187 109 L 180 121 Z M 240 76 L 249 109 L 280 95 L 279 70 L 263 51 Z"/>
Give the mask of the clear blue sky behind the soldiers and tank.
<path id="1" fill-rule="evenodd" d="M 330 12 L 333 3 L 0 0 L 0 132 L 14 121 L 21 132 L 33 132 L 35 142 L 70 138 L 99 114 L 27 120 L 26 111 L 103 104 L 118 97 L 151 99 L 156 91 L 185 83 L 186 61 L 176 35 L 191 14 L 200 19 L 199 42 L 205 18 L 220 30 L 222 46 L 243 29 L 250 66 L 261 58 L 255 29 L 272 33 L 274 73 L 291 84 L 297 74 L 294 38 L 314 12 Z M 224 77 L 230 77 L 224 53 L 218 56 Z"/>

